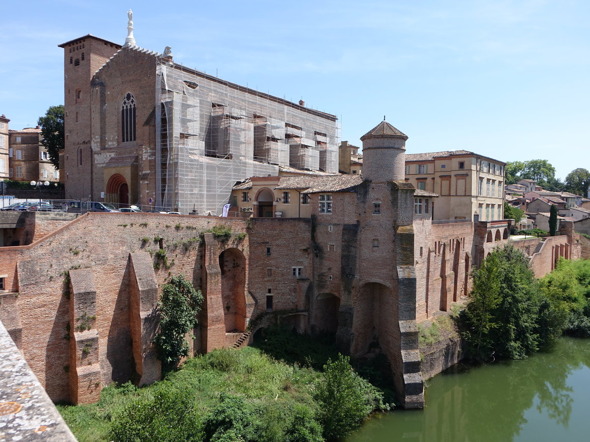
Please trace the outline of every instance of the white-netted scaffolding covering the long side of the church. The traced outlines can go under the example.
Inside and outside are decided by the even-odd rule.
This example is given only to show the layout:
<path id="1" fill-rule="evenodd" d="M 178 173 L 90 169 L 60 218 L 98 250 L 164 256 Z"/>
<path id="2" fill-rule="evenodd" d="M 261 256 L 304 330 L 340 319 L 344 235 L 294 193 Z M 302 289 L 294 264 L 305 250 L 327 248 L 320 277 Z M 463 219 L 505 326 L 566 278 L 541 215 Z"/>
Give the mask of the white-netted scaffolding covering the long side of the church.
<path id="1" fill-rule="evenodd" d="M 156 206 L 219 215 L 231 189 L 279 166 L 338 171 L 336 118 L 158 57 Z"/>

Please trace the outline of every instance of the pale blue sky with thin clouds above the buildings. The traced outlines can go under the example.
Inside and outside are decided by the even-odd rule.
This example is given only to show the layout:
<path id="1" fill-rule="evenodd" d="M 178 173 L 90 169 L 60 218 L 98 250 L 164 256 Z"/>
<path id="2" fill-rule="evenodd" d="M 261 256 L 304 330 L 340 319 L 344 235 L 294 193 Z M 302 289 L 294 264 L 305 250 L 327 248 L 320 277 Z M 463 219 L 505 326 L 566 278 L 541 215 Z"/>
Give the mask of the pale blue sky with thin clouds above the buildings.
<path id="1" fill-rule="evenodd" d="M 342 140 L 386 116 L 408 153 L 466 149 L 590 169 L 590 2 L 7 2 L 0 114 L 63 103 L 58 44 L 94 34 L 336 114 Z"/>

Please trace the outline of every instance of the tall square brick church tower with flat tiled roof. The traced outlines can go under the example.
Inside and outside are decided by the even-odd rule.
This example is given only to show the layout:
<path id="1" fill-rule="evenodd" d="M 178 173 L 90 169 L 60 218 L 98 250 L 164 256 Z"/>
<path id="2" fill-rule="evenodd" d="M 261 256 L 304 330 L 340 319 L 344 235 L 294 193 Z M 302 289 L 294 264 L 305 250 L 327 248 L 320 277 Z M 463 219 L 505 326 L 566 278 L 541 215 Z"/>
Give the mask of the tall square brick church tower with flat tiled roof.
<path id="1" fill-rule="evenodd" d="M 90 83 L 121 45 L 87 34 L 58 47 L 64 49 L 65 196 L 88 198 L 93 194 Z"/>

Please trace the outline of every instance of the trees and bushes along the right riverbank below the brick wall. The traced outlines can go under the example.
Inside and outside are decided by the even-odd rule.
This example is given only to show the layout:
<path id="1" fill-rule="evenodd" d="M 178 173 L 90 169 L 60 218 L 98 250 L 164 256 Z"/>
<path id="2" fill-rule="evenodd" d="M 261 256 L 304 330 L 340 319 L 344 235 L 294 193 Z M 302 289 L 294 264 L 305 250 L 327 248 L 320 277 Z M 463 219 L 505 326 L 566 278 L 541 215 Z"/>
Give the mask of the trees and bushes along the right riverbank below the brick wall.
<path id="1" fill-rule="evenodd" d="M 537 280 L 520 250 L 497 248 L 474 269 L 470 298 L 459 322 L 479 361 L 522 359 L 564 333 L 590 336 L 590 260 L 560 260 Z"/>

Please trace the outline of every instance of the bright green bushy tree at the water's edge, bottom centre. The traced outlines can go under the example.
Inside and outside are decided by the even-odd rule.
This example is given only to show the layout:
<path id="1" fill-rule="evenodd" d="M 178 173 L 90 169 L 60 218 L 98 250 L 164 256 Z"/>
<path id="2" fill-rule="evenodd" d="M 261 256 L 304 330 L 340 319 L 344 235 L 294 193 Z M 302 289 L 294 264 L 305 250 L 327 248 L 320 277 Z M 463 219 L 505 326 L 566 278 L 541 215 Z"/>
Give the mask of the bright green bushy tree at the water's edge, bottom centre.
<path id="1" fill-rule="evenodd" d="M 356 374 L 350 358 L 343 355 L 324 365 L 314 399 L 319 403 L 319 421 L 327 440 L 350 434 L 374 410 L 389 408 L 383 403 L 382 392 Z"/>

